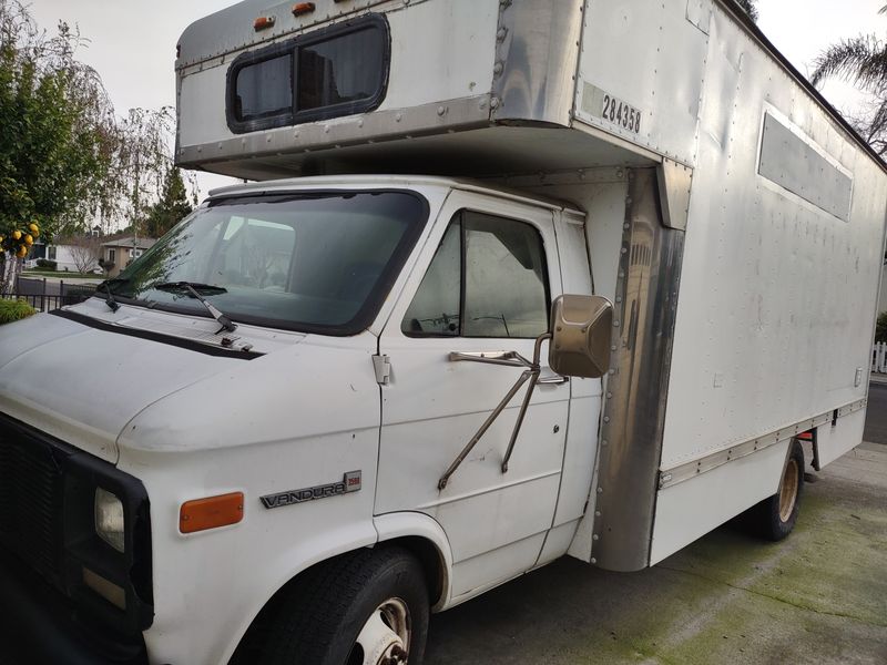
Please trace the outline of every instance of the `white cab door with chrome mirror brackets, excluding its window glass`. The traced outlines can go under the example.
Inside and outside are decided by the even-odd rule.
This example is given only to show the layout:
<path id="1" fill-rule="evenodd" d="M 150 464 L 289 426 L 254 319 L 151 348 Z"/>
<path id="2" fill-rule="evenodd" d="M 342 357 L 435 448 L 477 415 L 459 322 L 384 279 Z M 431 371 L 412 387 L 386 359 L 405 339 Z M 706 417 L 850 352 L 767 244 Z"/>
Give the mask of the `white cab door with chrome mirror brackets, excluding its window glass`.
<path id="1" fill-rule="evenodd" d="M 563 464 L 570 383 L 539 387 L 532 396 L 508 471 L 502 460 L 524 390 L 495 420 L 475 448 L 439 489 L 438 481 L 472 439 L 522 369 L 452 362 L 451 351 L 514 350 L 532 357 L 534 340 L 520 338 L 407 337 L 401 320 L 445 229 L 462 209 L 478 211 L 532 224 L 539 232 L 549 269 L 552 297 L 562 293 L 552 211 L 508 198 L 453 191 L 435 221 L 404 291 L 379 339 L 391 362 L 390 380 L 381 388 L 383 428 L 376 512 L 419 511 L 437 520 L 447 533 L 453 562 L 471 560 L 471 579 L 453 570 L 453 593 L 475 590 L 529 570 L 551 528 Z M 542 346 L 542 372 L 548 342 Z M 512 543 L 521 543 L 511 548 Z M 504 548 L 504 550 L 503 550 Z M 520 559 L 522 556 L 523 559 Z M 483 563 L 483 562 L 488 563 Z M 487 565 L 486 573 L 483 566 Z M 506 567 L 509 566 L 509 567 Z M 486 575 L 486 576 L 480 576 Z"/>

